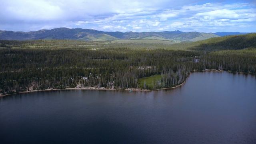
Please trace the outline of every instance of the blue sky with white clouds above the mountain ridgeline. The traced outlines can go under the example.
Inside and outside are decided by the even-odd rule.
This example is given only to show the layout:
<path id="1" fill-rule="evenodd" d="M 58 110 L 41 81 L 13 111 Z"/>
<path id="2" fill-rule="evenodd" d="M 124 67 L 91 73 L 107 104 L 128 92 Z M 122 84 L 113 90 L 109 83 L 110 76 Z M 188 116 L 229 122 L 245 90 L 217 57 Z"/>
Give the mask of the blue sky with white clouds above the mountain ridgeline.
<path id="1" fill-rule="evenodd" d="M 0 0 L 0 30 L 256 32 L 256 0 Z"/>

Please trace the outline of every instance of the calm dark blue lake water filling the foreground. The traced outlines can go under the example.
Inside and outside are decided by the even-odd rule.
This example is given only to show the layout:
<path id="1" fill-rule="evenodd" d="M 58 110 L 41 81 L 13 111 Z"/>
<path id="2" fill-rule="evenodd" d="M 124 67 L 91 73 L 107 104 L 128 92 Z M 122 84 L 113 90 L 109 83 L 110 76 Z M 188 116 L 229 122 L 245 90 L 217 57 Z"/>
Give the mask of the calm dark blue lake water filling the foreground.
<path id="1" fill-rule="evenodd" d="M 6 96 L 0 143 L 256 144 L 256 78 L 194 72 L 170 90 Z"/>

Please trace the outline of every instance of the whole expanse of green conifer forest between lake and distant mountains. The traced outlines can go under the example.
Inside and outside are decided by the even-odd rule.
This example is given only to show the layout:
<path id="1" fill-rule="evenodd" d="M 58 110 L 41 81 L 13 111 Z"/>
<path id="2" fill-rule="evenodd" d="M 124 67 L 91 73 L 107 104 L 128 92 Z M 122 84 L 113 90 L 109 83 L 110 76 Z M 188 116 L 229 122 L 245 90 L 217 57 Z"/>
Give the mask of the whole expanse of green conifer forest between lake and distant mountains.
<path id="1" fill-rule="evenodd" d="M 180 44 L 0 40 L 0 62 L 0 94 L 74 87 L 169 88 L 182 84 L 193 70 L 256 74 L 256 34 Z"/>

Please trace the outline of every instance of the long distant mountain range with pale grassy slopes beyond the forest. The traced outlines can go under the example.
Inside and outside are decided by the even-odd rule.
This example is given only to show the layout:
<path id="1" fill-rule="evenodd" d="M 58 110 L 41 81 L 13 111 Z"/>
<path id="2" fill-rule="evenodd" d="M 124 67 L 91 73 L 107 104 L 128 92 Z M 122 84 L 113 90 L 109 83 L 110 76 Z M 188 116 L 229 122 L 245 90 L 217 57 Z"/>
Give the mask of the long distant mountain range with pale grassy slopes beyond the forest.
<path id="1" fill-rule="evenodd" d="M 38 39 L 71 39 L 71 40 L 118 40 L 118 39 L 154 39 L 175 41 L 198 41 L 218 37 L 213 33 L 200 32 L 103 32 L 82 28 L 54 28 L 31 32 L 1 31 L 0 40 L 38 40 Z"/>

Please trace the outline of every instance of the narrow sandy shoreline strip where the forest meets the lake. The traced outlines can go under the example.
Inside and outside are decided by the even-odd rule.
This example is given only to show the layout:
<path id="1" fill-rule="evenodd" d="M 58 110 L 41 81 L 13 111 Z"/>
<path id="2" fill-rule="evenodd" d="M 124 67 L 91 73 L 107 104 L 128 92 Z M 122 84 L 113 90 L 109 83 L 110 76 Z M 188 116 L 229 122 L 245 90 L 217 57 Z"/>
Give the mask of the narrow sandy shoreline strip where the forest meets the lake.
<path id="1" fill-rule="evenodd" d="M 192 72 L 223 72 L 223 71 L 226 71 L 226 70 L 192 70 L 190 72 L 190 74 Z M 248 74 L 248 73 L 244 73 L 244 72 L 232 72 L 232 71 L 226 71 L 226 72 L 230 72 L 230 73 L 242 73 L 242 74 Z M 190 74 L 188 75 L 188 77 L 190 76 Z M 187 78 L 188 78 L 187 77 Z M 30 90 L 30 91 L 23 91 L 23 92 L 16 92 L 16 93 L 13 93 L 13 94 L 22 94 L 22 93 L 31 93 L 31 92 L 43 92 L 43 91 L 55 91 L 55 90 L 120 90 L 120 91 L 157 91 L 157 90 L 168 90 L 168 89 L 173 89 L 173 88 L 178 88 L 182 85 L 184 85 L 186 82 L 186 80 L 184 80 L 184 82 L 182 82 L 181 84 L 177 85 L 177 86 L 174 86 L 174 87 L 170 87 L 170 88 L 160 88 L 160 89 L 154 89 L 154 90 L 148 90 L 148 89 L 138 89 L 138 88 L 128 88 L 128 89 L 114 89 L 114 88 L 95 88 L 95 87 L 87 87 L 87 88 L 63 88 L 63 89 L 45 89 L 45 90 Z M 13 94 L 3 94 L 3 95 L 0 95 L 0 97 L 4 97 L 4 96 L 9 96 L 9 95 L 13 95 Z"/>

